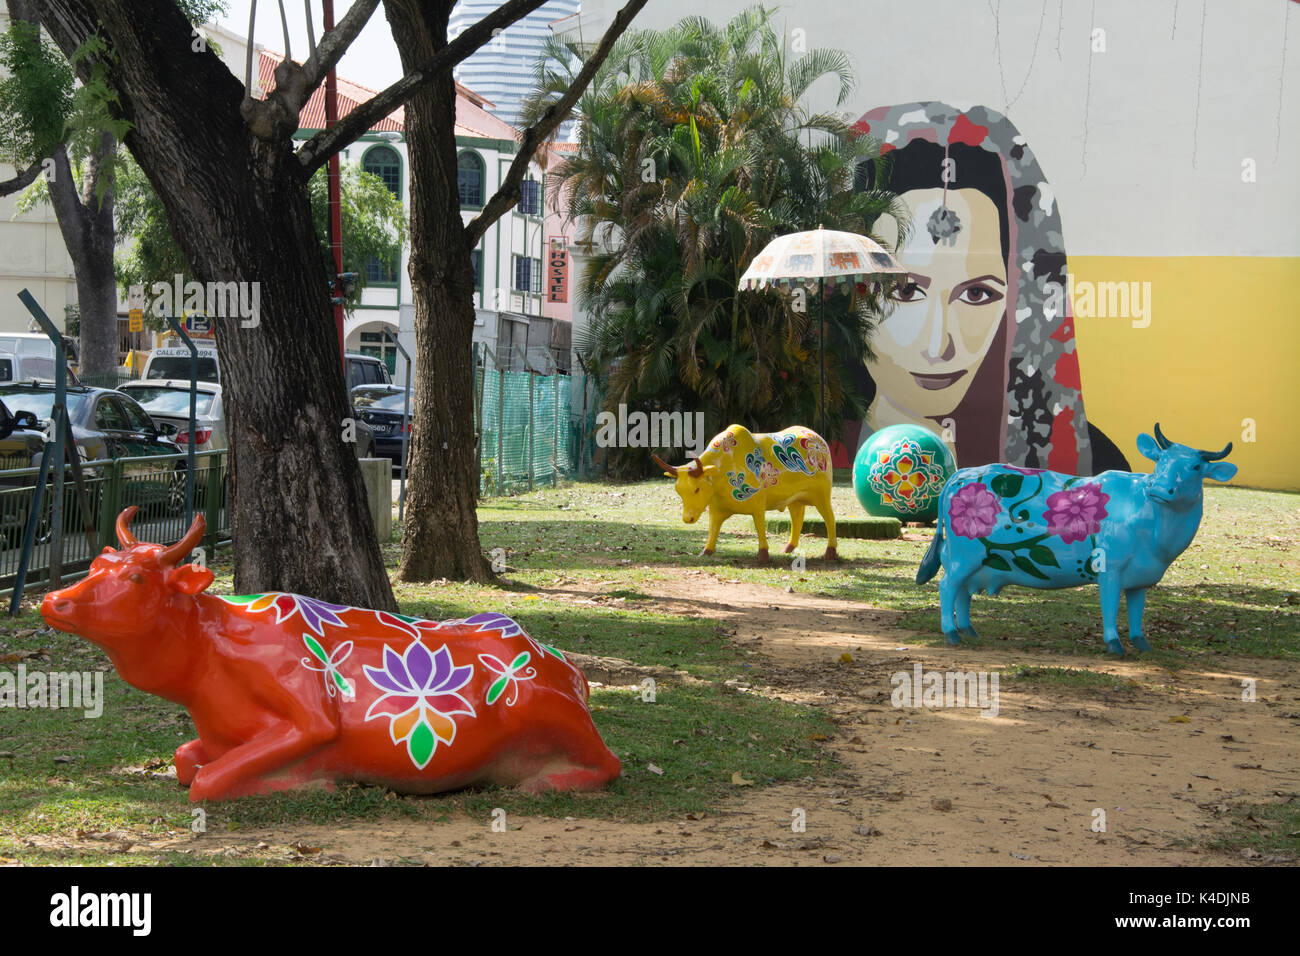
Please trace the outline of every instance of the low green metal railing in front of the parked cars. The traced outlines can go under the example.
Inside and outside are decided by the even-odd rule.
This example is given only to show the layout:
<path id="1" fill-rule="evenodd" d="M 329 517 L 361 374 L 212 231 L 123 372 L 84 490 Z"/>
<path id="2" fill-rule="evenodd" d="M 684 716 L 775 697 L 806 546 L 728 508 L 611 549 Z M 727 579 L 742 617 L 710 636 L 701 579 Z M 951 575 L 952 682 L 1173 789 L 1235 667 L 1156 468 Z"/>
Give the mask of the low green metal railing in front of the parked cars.
<path id="1" fill-rule="evenodd" d="M 185 463 L 186 455 L 84 462 L 84 510 L 72 468 L 65 466 L 62 520 L 57 524 L 53 518 L 55 483 L 52 476 L 48 477 L 26 585 L 49 584 L 51 567 L 61 568 L 62 579 L 84 574 L 104 548 L 118 546 L 117 515 L 130 505 L 139 509 L 131 531 L 140 541 L 179 541 L 186 532 Z M 10 593 L 14 587 L 39 472 L 39 468 L 0 471 L 0 593 Z M 226 451 L 195 459 L 194 511 L 207 520 L 208 531 L 202 546 L 209 555 L 230 541 L 228 473 Z"/>

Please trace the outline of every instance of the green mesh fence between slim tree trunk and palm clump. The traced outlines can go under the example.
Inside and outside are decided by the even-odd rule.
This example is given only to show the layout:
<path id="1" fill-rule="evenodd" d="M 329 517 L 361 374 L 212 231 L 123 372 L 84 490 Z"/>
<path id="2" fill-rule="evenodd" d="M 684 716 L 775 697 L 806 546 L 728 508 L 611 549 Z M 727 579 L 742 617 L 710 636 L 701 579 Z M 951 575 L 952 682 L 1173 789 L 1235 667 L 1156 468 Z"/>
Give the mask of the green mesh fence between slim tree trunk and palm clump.
<path id="1" fill-rule="evenodd" d="M 474 390 L 480 494 L 554 486 L 575 473 L 569 376 L 477 365 Z"/>

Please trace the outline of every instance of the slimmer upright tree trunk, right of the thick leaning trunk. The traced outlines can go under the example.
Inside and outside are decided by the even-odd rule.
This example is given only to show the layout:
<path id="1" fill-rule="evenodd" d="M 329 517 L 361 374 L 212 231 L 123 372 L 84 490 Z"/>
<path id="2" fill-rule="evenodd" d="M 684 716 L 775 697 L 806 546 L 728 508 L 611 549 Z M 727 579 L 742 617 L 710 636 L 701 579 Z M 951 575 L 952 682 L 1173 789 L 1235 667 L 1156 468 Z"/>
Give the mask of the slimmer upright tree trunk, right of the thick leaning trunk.
<path id="1" fill-rule="evenodd" d="M 447 43 L 451 3 L 385 0 L 406 70 Z M 472 341 L 473 265 L 456 177 L 456 90 L 450 70 L 406 104 L 411 156 L 415 429 L 402 529 L 404 581 L 488 581 L 478 545 Z"/>

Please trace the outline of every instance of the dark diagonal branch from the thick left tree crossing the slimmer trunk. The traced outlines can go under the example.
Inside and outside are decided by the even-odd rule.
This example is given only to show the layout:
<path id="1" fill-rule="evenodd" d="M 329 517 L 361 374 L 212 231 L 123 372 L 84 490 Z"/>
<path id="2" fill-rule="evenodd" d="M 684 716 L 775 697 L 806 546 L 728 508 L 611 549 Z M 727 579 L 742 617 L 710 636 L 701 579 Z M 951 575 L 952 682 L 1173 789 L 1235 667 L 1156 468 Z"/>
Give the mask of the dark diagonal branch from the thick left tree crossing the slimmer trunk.
<path id="1" fill-rule="evenodd" d="M 317 133 L 298 150 L 298 161 L 303 164 L 304 173 L 311 176 L 325 160 L 411 99 L 419 87 L 432 82 L 488 43 L 495 30 L 521 20 L 543 3 L 546 0 L 510 0 L 502 4 L 434 53 L 428 62 L 360 104 L 330 129 Z"/>

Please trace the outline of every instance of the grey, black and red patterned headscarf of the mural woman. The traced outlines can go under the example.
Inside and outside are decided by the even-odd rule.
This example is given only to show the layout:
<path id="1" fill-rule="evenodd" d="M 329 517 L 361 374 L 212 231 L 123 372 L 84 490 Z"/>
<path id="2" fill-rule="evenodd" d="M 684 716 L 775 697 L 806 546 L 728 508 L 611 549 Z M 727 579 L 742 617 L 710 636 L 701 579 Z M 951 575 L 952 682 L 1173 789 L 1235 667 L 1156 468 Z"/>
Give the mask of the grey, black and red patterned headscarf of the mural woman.
<path id="1" fill-rule="evenodd" d="M 1092 449 L 1083 411 L 1074 320 L 1067 302 L 1066 254 L 1061 216 L 1050 185 L 1015 126 L 996 111 L 974 107 L 959 111 L 944 103 L 907 103 L 866 113 L 855 126 L 881 142 L 888 153 L 914 140 L 927 140 L 946 151 L 958 144 L 994 155 L 1002 170 L 1002 251 L 1008 287 L 1004 332 L 984 359 L 1001 362 L 1004 394 L 1000 444 L 1002 460 L 1076 475 L 1092 473 Z M 967 152 L 968 155 L 968 152 Z M 887 181 L 885 187 L 890 187 Z M 936 176 L 923 186 L 942 187 Z M 911 183 L 907 189 L 919 189 Z M 896 191 L 902 191 L 896 189 Z M 991 196 L 993 198 L 993 196 Z M 945 194 L 946 199 L 946 194 Z M 998 202 L 993 198 L 994 203 Z M 941 211 L 948 213 L 945 208 Z M 940 242 L 946 230 L 959 229 L 945 216 L 914 222 Z M 888 319 L 885 320 L 888 321 Z M 994 351 L 1001 342 L 1001 356 Z M 992 369 L 988 369 L 992 382 Z M 984 376 L 982 376 L 983 378 Z M 989 378 L 985 378 L 989 381 Z M 996 384 L 992 384 L 996 388 Z M 972 384 L 972 389 L 979 382 Z M 979 397 L 975 398 L 979 403 Z M 987 415 L 996 408 L 987 399 Z M 965 402 L 963 402 L 965 405 Z M 982 412 L 980 418 L 985 418 Z M 989 428 L 993 423 L 989 420 Z M 958 440 L 961 436 L 958 434 Z M 958 444 L 961 447 L 961 444 Z M 991 459 L 996 460 L 996 459 Z M 963 460 L 962 464 L 985 462 Z"/>

